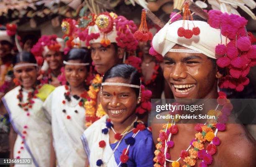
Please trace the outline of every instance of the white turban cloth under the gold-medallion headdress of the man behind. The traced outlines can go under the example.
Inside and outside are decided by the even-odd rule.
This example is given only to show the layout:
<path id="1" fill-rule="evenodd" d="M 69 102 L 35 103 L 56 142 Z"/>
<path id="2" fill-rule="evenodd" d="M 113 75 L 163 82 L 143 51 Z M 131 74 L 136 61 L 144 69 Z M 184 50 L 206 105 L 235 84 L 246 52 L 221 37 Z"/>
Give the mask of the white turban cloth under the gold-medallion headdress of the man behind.
<path id="1" fill-rule="evenodd" d="M 94 26 L 90 26 L 88 28 L 88 33 L 91 34 L 91 33 L 100 33 L 100 37 L 98 37 L 96 40 L 90 40 L 90 43 L 100 43 L 100 41 L 102 39 L 104 39 L 104 33 L 101 32 L 98 28 L 97 25 L 94 25 Z M 106 35 L 106 39 L 110 40 L 110 43 L 117 43 L 115 38 L 117 37 L 117 31 L 116 31 L 116 28 L 115 28 L 115 25 L 113 26 L 113 30 L 111 32 L 108 32 L 107 35 Z"/>

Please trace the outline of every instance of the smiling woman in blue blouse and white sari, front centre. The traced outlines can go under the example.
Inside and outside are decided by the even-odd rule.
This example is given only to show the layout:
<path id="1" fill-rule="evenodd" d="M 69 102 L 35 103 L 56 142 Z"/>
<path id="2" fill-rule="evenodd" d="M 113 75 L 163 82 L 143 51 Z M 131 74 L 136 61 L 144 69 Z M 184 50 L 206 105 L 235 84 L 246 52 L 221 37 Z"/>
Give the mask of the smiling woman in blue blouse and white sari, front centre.
<path id="1" fill-rule="evenodd" d="M 107 115 L 81 137 L 90 167 L 153 167 L 152 135 L 136 114 L 137 105 L 145 102 L 141 88 L 140 74 L 131 65 L 116 65 L 105 73 L 101 104 Z"/>

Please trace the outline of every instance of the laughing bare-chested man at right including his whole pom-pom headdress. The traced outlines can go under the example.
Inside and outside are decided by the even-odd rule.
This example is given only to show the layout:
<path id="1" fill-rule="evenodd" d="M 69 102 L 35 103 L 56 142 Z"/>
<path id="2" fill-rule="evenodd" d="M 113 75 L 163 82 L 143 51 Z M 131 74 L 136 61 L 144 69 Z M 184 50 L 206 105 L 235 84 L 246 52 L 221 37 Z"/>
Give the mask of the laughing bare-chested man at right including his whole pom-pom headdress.
<path id="1" fill-rule="evenodd" d="M 216 109 L 208 112 L 218 117 L 218 123 L 175 125 L 179 120 L 172 120 L 152 125 L 157 149 L 154 167 L 255 167 L 256 141 L 243 125 L 224 124 L 232 105 L 217 91 L 218 82 L 236 91 L 249 82 L 246 75 L 255 65 L 256 47 L 247 36 L 247 20 L 210 10 L 207 22 L 199 21 L 190 14 L 187 2 L 184 7 L 183 20 L 174 21 L 179 16 L 174 14 L 154 36 L 153 47 L 164 57 L 164 77 L 174 98 L 218 98 Z"/>

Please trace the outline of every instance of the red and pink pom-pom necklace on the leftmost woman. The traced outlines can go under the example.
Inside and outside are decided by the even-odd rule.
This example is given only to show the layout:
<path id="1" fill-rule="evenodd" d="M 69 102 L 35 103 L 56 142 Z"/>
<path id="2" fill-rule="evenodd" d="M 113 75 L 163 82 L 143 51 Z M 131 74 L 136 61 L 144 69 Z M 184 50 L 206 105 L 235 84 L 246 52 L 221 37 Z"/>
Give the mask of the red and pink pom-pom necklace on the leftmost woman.
<path id="1" fill-rule="evenodd" d="M 19 90 L 19 94 L 17 95 L 17 99 L 19 101 L 18 106 L 23 109 L 25 112 L 27 112 L 27 116 L 30 116 L 30 112 L 29 110 L 32 109 L 33 104 L 35 103 L 33 101 L 33 98 L 36 99 L 36 94 L 38 93 L 38 89 L 41 88 L 41 85 L 38 85 L 36 88 L 33 87 L 33 91 L 32 92 L 28 92 L 28 97 L 27 97 L 27 101 L 23 102 L 23 86 L 20 86 L 20 90 Z M 28 125 L 24 125 L 23 126 L 23 130 L 22 130 L 22 142 L 21 142 L 21 147 L 18 150 L 18 154 L 20 154 L 20 152 L 24 149 L 24 140 L 26 139 L 26 135 L 27 135 L 27 129 L 28 129 Z M 16 158 L 20 158 L 20 156 L 17 156 Z"/>

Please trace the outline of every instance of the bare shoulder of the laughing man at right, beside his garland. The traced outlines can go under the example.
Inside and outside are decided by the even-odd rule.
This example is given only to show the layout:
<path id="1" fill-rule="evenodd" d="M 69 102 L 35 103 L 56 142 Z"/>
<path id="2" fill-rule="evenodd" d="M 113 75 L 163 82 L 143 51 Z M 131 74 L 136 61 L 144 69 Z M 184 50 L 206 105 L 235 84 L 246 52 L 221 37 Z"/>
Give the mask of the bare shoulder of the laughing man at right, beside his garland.
<path id="1" fill-rule="evenodd" d="M 221 166 L 256 167 L 256 141 L 243 125 L 229 124 L 219 137 Z"/>

